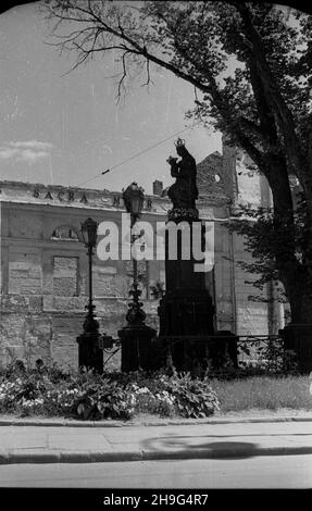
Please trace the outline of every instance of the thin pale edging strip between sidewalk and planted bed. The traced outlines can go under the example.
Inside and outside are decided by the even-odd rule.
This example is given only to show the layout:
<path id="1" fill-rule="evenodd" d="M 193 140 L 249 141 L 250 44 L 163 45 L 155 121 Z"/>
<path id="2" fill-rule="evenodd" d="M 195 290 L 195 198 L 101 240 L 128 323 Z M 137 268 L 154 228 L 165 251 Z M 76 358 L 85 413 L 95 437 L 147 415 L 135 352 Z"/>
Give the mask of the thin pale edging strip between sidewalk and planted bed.
<path id="1" fill-rule="evenodd" d="M 129 427 L 129 426 L 185 426 L 192 424 L 246 424 L 267 422 L 312 422 L 312 414 L 307 416 L 267 416 L 267 417 L 228 417 L 228 419 L 185 419 L 164 420 L 164 422 L 142 421 L 140 423 L 127 421 L 49 421 L 45 419 L 2 419 L 0 426 L 43 426 L 43 427 Z"/>

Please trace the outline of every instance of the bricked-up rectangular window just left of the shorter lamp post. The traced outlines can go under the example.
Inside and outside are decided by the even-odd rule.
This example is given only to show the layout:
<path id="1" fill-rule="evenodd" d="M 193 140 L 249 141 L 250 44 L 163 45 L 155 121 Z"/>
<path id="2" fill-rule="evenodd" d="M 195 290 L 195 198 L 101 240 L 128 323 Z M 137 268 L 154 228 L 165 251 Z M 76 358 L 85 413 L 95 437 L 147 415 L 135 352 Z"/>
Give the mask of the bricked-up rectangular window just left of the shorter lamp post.
<path id="1" fill-rule="evenodd" d="M 63 297 L 77 296 L 77 258 L 54 257 L 53 295 Z"/>

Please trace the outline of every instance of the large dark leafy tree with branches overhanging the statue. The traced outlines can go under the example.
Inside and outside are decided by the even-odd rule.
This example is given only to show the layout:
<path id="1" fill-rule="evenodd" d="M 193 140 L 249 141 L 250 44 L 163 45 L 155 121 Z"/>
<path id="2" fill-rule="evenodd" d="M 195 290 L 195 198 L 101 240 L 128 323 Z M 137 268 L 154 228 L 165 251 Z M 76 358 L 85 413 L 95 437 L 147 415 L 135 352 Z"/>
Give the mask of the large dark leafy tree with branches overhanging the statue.
<path id="1" fill-rule="evenodd" d="M 75 66 L 114 52 L 121 64 L 118 95 L 133 70 L 143 70 L 149 84 L 154 66 L 194 85 L 197 99 L 188 115 L 212 122 L 269 182 L 272 213 L 260 215 L 252 228 L 270 235 L 258 248 L 257 236 L 249 236 L 250 248 L 261 264 L 277 272 L 292 319 L 309 321 L 312 16 L 272 3 L 235 1 L 47 0 L 47 9 L 57 45 L 76 52 Z M 63 32 L 70 22 L 73 29 Z M 303 198 L 299 223 L 294 176 Z"/>

